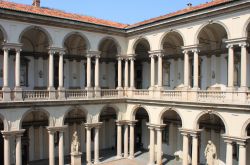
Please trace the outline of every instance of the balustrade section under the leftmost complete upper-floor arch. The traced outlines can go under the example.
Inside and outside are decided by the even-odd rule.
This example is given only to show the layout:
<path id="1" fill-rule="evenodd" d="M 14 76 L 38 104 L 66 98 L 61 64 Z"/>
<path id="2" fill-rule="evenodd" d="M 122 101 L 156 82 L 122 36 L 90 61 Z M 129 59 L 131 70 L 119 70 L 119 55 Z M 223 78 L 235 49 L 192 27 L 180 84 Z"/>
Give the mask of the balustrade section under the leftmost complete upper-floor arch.
<path id="1" fill-rule="evenodd" d="M 46 100 L 49 99 L 49 91 L 47 90 L 25 90 L 22 91 L 23 100 Z"/>

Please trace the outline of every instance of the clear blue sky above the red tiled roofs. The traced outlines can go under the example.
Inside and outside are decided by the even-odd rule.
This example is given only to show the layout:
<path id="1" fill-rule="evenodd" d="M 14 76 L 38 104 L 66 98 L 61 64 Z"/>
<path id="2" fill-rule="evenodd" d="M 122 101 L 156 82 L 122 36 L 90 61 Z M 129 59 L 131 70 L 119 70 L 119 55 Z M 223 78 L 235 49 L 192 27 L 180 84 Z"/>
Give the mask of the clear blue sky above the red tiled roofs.
<path id="1" fill-rule="evenodd" d="M 32 4 L 32 0 L 10 0 Z M 211 0 L 41 0 L 41 6 L 133 24 Z"/>

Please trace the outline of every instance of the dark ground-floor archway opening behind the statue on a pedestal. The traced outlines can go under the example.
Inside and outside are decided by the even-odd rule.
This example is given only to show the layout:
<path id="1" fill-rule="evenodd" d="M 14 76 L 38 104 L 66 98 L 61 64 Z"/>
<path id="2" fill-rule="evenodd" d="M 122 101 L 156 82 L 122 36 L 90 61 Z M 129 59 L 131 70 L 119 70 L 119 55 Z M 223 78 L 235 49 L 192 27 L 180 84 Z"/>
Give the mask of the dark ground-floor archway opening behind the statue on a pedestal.
<path id="1" fill-rule="evenodd" d="M 86 131 L 83 126 L 87 121 L 87 113 L 85 110 L 82 110 L 79 107 L 74 107 L 70 109 L 64 118 L 64 125 L 67 125 L 68 128 L 65 131 L 65 155 L 69 156 L 71 153 L 71 142 L 74 132 L 77 132 L 79 142 L 80 142 L 80 151 L 84 153 L 86 151 Z M 68 162 L 69 163 L 69 162 Z"/>

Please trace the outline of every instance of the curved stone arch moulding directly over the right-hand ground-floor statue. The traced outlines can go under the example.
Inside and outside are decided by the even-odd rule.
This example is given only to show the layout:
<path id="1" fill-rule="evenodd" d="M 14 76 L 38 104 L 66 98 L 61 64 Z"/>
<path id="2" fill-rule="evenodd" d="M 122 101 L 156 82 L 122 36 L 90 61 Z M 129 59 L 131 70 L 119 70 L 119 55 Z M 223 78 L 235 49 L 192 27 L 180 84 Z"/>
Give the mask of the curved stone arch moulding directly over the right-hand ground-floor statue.
<path id="1" fill-rule="evenodd" d="M 202 111 L 196 118 L 195 118 L 195 121 L 194 121 L 194 129 L 197 130 L 199 129 L 199 120 L 202 116 L 206 115 L 206 114 L 213 114 L 213 115 L 216 115 L 217 117 L 219 117 L 221 119 L 221 121 L 223 122 L 224 126 L 225 126 L 225 134 L 228 134 L 228 125 L 226 123 L 226 120 L 222 117 L 222 115 L 216 111 Z"/>

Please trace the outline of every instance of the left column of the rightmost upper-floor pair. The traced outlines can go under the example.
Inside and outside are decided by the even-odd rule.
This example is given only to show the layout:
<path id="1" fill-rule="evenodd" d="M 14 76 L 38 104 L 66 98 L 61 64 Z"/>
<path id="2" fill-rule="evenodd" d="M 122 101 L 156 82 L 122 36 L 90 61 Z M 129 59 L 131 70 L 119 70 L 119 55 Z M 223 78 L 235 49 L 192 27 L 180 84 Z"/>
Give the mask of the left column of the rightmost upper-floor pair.
<path id="1" fill-rule="evenodd" d="M 228 48 L 228 88 L 234 87 L 234 47 L 232 44 L 227 46 Z"/>

